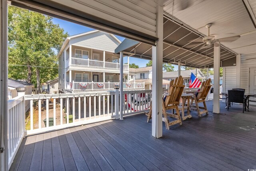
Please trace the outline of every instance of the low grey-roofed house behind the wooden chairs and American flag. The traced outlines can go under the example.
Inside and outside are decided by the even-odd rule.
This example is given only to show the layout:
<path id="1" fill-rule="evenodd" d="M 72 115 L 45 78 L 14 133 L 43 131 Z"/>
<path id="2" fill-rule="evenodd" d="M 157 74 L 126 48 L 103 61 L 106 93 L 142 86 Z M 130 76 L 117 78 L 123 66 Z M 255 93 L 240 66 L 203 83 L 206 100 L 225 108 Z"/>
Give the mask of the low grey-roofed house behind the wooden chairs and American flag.
<path id="1" fill-rule="evenodd" d="M 191 76 L 191 72 L 196 76 L 196 70 L 181 70 L 180 75 L 184 78 L 184 84 L 186 87 L 189 85 L 189 79 Z M 171 71 L 171 72 L 163 72 L 163 79 L 164 80 L 173 80 L 178 77 L 178 71 Z M 198 69 L 197 78 L 200 80 L 205 80 L 204 74 Z"/>

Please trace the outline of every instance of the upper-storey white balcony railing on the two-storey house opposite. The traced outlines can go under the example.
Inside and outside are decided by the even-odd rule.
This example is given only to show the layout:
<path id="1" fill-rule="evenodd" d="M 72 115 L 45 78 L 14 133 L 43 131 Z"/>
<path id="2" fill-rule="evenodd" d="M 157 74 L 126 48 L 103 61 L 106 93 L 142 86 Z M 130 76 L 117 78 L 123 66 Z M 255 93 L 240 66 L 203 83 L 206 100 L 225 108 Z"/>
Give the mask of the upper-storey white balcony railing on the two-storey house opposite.
<path id="1" fill-rule="evenodd" d="M 71 58 L 70 67 L 86 67 L 86 70 L 100 69 L 104 72 L 120 72 L 120 64 L 114 62 L 97 61 L 90 59 Z M 72 68 L 74 69 L 74 68 Z M 124 73 L 129 72 L 128 64 L 124 64 Z"/>

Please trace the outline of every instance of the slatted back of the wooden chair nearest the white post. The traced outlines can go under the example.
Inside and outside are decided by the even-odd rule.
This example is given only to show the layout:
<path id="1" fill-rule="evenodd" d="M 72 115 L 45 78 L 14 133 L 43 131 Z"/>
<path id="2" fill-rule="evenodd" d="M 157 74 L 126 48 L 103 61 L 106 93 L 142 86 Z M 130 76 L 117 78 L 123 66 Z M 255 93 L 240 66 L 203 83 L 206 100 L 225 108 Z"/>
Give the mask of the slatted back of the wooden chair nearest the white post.
<path id="1" fill-rule="evenodd" d="M 185 85 L 183 85 L 183 78 L 179 76 L 175 78 L 175 80 L 170 81 L 170 87 L 168 91 L 168 95 L 166 96 L 164 105 L 167 107 L 168 105 L 178 105 L 180 103 L 180 97 L 184 90 Z"/>

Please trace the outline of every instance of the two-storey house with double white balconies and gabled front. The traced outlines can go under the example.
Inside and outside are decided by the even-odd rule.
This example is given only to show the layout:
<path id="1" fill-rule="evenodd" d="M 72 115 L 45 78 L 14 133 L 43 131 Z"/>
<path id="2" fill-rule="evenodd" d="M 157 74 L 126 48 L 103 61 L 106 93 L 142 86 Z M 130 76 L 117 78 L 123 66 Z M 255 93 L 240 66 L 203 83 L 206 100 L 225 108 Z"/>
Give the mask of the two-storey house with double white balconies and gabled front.
<path id="1" fill-rule="evenodd" d="M 120 57 L 114 50 L 120 43 L 99 30 L 66 38 L 58 54 L 60 93 L 114 89 L 120 81 Z M 129 74 L 129 64 L 123 73 Z"/>

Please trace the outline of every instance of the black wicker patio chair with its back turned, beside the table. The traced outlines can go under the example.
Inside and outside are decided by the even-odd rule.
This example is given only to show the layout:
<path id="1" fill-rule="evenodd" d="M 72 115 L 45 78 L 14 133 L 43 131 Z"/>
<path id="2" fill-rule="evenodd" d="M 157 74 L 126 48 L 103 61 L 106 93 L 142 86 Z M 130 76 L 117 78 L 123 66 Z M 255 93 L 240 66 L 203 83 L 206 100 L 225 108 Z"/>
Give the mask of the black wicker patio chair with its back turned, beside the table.
<path id="1" fill-rule="evenodd" d="M 244 91 L 243 90 L 228 90 L 228 109 L 230 103 L 242 103 L 243 104 L 243 113 L 244 113 Z"/>

